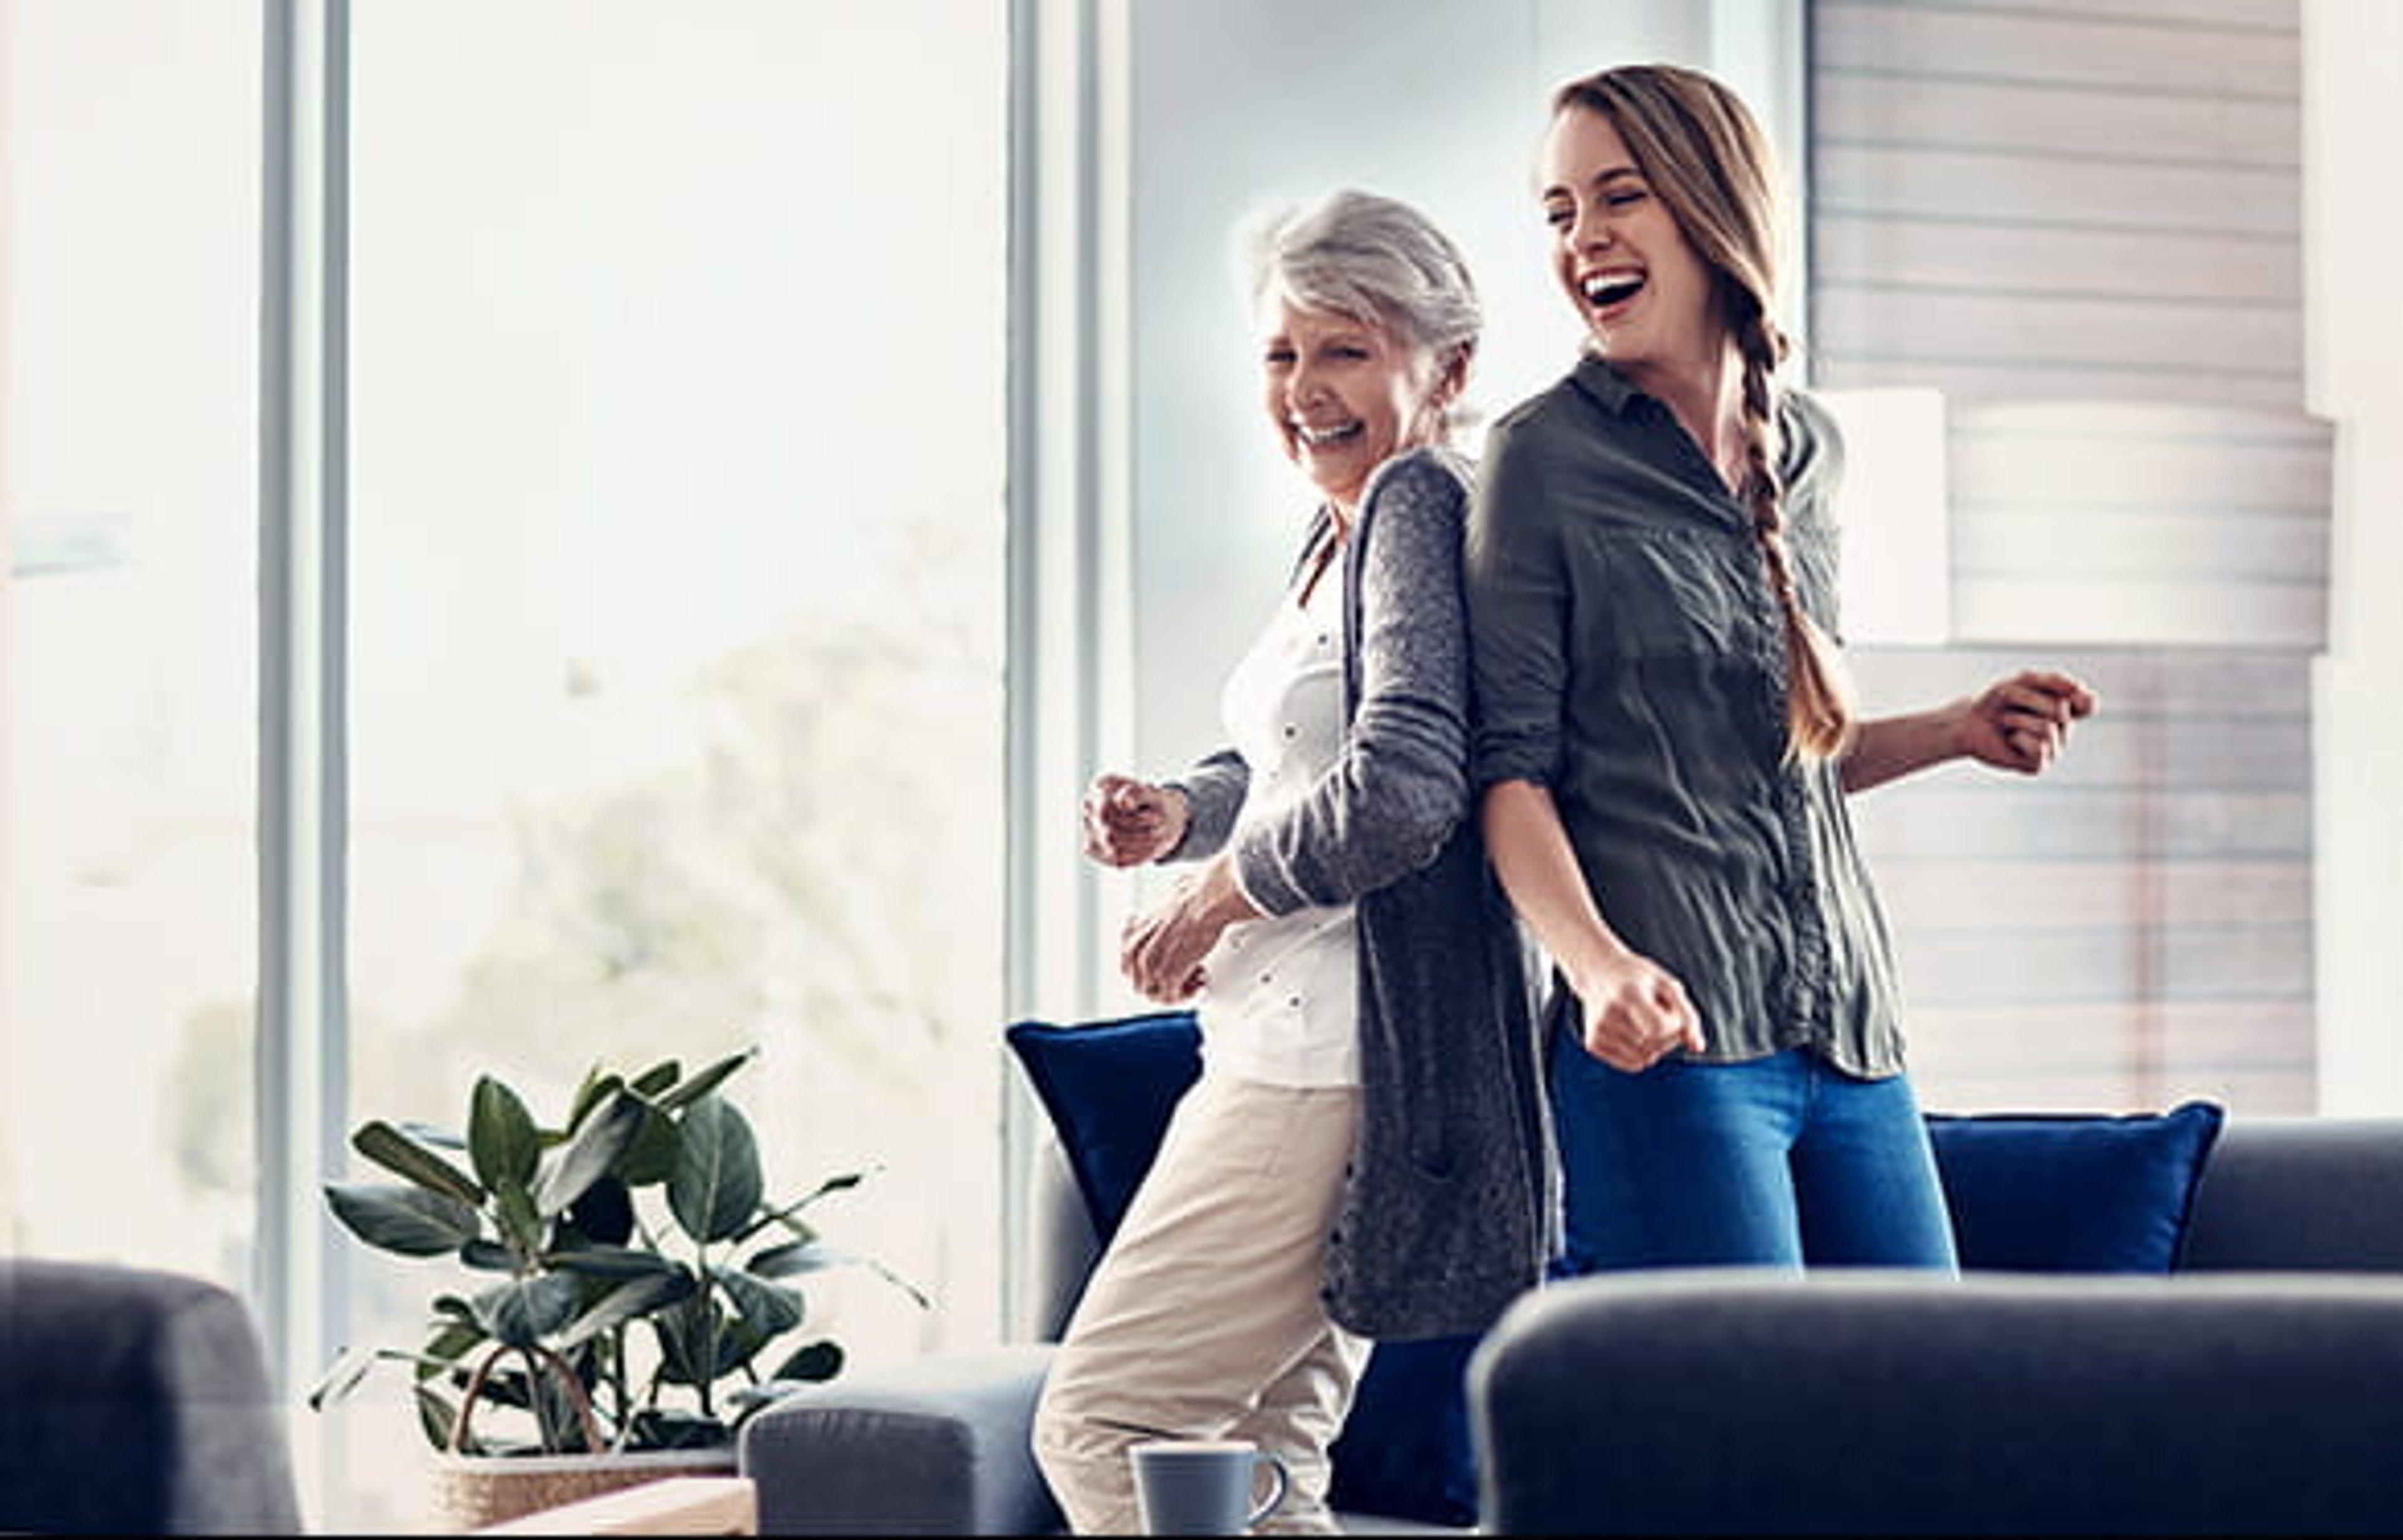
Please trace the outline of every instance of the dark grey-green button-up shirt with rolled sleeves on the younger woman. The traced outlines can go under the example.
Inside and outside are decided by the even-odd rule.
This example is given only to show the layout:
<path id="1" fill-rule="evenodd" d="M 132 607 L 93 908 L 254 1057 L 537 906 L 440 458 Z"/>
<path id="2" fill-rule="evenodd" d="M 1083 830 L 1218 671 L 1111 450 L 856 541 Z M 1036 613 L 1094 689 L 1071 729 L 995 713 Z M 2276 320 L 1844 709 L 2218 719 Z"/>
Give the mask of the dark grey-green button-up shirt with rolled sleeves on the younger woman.
<path id="1" fill-rule="evenodd" d="M 1843 444 L 1785 392 L 1788 550 L 1836 627 Z M 1891 939 L 1838 766 L 1785 752 L 1785 632 L 1749 509 L 1588 356 L 1502 416 L 1468 517 L 1475 783 L 1552 793 L 1603 918 L 1701 1011 L 1699 1060 L 1903 1069 Z M 1574 1002 L 1572 1002 L 1574 1004 Z"/>

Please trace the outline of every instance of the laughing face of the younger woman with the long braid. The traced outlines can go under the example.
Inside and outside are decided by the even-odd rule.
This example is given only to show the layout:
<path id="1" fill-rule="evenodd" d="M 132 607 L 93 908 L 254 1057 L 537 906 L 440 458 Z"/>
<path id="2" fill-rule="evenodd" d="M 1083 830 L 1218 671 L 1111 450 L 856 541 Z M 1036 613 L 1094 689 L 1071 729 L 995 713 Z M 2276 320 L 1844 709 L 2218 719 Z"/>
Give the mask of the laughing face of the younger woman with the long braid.
<path id="1" fill-rule="evenodd" d="M 1605 358 L 1644 370 L 1716 353 L 1711 269 L 1610 118 L 1581 106 L 1552 118 L 1538 187 L 1552 226 L 1552 276 Z"/>

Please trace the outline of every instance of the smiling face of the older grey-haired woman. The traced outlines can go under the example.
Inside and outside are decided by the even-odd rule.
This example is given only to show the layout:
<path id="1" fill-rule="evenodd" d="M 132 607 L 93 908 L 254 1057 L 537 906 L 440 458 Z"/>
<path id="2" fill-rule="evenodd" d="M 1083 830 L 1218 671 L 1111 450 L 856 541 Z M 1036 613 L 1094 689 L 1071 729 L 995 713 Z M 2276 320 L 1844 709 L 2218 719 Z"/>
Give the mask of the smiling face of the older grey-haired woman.
<path id="1" fill-rule="evenodd" d="M 1286 456 L 1343 512 L 1360 507 L 1370 471 L 1439 435 L 1435 358 L 1389 327 L 1274 303 L 1259 370 Z"/>

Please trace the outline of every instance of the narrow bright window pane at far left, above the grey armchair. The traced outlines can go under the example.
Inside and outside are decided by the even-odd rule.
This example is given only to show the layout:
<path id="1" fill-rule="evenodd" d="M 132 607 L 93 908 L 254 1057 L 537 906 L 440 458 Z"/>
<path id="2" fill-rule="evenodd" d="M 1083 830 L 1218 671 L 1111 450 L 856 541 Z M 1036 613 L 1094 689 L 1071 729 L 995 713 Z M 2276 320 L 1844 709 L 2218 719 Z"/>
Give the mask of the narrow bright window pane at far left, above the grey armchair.
<path id="1" fill-rule="evenodd" d="M 260 24 L 0 5 L 0 1247 L 248 1285 Z"/>

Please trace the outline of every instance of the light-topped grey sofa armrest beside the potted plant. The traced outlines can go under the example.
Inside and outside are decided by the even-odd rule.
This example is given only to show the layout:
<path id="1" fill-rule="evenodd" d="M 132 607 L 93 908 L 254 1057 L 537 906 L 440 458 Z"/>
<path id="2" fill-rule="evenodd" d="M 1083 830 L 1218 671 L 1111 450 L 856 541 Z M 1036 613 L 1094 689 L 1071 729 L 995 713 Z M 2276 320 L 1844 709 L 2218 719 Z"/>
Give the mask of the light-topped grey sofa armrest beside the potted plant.
<path id="1" fill-rule="evenodd" d="M 1033 1458 L 1050 1343 L 940 1353 L 803 1386 L 743 1425 L 767 1535 L 1062 1528 Z"/>

